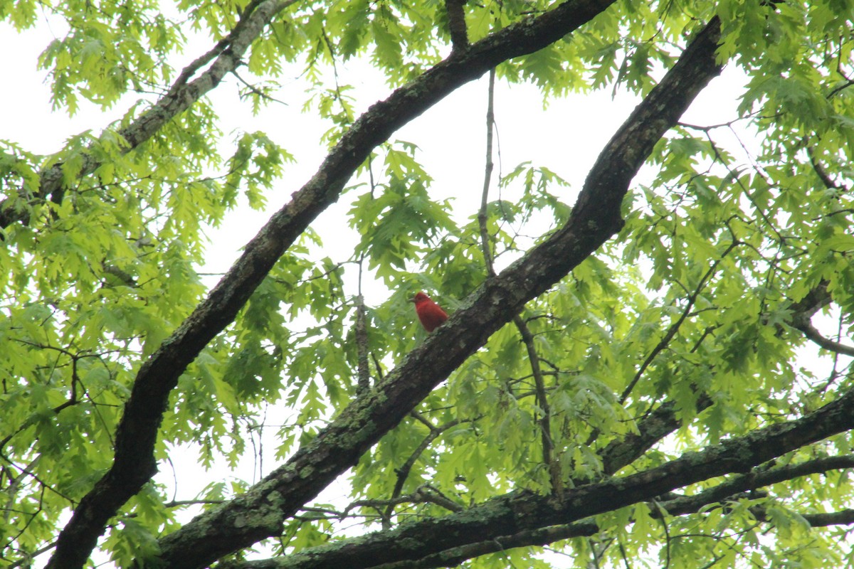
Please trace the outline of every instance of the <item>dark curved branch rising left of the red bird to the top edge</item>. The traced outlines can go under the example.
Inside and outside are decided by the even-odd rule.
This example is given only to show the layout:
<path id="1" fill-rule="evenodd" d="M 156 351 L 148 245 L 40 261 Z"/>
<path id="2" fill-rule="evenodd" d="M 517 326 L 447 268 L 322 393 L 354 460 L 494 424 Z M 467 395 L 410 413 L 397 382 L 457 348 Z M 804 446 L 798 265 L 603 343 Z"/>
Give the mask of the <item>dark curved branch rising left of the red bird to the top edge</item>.
<path id="1" fill-rule="evenodd" d="M 269 6 L 272 9 L 284 5 L 284 2 L 285 0 L 279 0 L 278 3 L 261 4 L 253 15 L 256 15 L 263 6 Z M 124 415 L 116 431 L 113 466 L 102 479 L 98 480 L 95 487 L 83 497 L 71 520 L 61 531 L 57 540 L 56 551 L 48 563 L 50 569 L 82 566 L 91 550 L 94 549 L 97 537 L 104 531 L 109 518 L 128 498 L 137 493 L 156 472 L 153 450 L 157 430 L 166 409 L 169 393 L 177 385 L 180 374 L 202 351 L 202 348 L 234 320 L 237 311 L 243 307 L 255 287 L 263 280 L 284 251 L 290 247 L 290 244 L 307 228 L 308 224 L 338 199 L 344 184 L 347 183 L 356 168 L 367 159 L 371 150 L 385 141 L 392 132 L 419 114 L 424 113 L 425 110 L 460 85 L 480 77 L 501 61 L 531 53 L 559 41 L 578 26 L 598 15 L 612 2 L 613 0 L 570 0 L 544 15 L 523 20 L 516 25 L 495 32 L 488 38 L 472 45 L 470 49 L 465 51 L 465 54 L 452 54 L 447 60 L 437 64 L 436 67 L 432 67 L 412 81 L 411 84 L 395 90 L 389 98 L 374 104 L 354 122 L 350 130 L 342 136 L 341 141 L 327 155 L 319 171 L 293 195 L 289 204 L 273 214 L 267 224 L 260 229 L 258 235 L 249 241 L 244 248 L 243 255 L 208 294 L 208 298 L 196 307 L 196 310 L 167 340 L 164 340 L 155 353 L 140 367 L 131 396 L 126 402 Z M 717 32 L 713 35 L 714 40 L 706 47 L 711 52 L 714 51 L 717 44 Z M 246 45 L 249 44 L 249 38 L 243 38 L 243 41 Z M 245 45 L 243 45 L 243 49 L 245 49 Z M 240 53 L 240 49 L 238 46 L 232 45 L 231 52 Z M 225 63 L 218 66 L 217 61 L 214 61 L 212 66 L 212 68 L 220 71 L 222 71 L 222 67 L 227 66 Z M 690 80 L 692 81 L 698 77 L 697 74 L 689 73 L 689 75 L 691 75 Z M 702 74 L 699 76 L 702 77 Z M 212 80 L 213 78 L 208 78 L 208 81 Z M 194 81 L 190 85 L 195 83 Z M 700 84 L 687 98 L 686 106 L 703 84 Z M 194 87 L 194 89 L 197 88 L 199 87 Z M 683 94 L 680 93 L 680 95 Z M 162 122 L 158 123 L 157 121 L 158 116 L 155 113 L 149 117 L 149 120 L 142 120 L 141 118 L 142 125 L 140 128 L 142 131 L 147 132 L 149 129 L 153 129 L 153 132 L 159 128 L 159 126 L 155 128 L 155 125 L 162 125 Z M 642 138 L 649 139 L 646 143 L 648 146 L 645 148 L 646 153 L 668 125 L 670 122 L 658 125 L 660 131 L 656 128 L 642 136 Z M 640 156 L 640 161 L 643 160 L 643 156 L 646 154 Z M 640 166 L 640 161 L 637 161 L 635 171 Z M 634 175 L 634 171 L 624 180 L 624 186 L 628 186 L 632 175 Z M 626 189 L 623 188 L 618 194 L 622 195 L 625 191 Z M 617 206 L 615 211 L 611 212 L 610 223 L 602 228 L 605 229 L 605 232 L 596 235 L 593 240 L 589 240 L 586 247 L 579 249 L 572 262 L 575 264 L 581 262 L 590 251 L 599 247 L 618 228 L 618 221 L 619 207 Z M 573 239 L 572 235 L 564 235 L 564 238 L 569 238 L 570 241 Z M 564 245 L 559 243 L 557 247 L 562 248 Z M 534 265 L 543 262 L 543 259 L 536 259 Z M 567 264 L 565 266 L 570 267 L 572 265 Z M 562 274 L 565 274 L 566 270 L 568 269 L 559 267 L 556 270 L 549 271 L 547 282 L 542 287 L 538 287 L 535 293 L 541 293 L 551 282 L 555 282 Z M 506 284 L 500 284 L 495 292 L 500 295 L 500 291 L 504 288 L 506 288 Z M 487 299 L 489 294 L 492 293 L 487 293 L 486 297 L 482 297 L 481 302 L 489 302 Z M 529 298 L 534 295 L 532 293 Z M 524 302 L 522 295 L 517 296 L 518 298 L 507 306 L 507 310 L 502 311 L 508 318 L 511 312 L 518 311 L 519 303 Z M 496 316 L 494 311 L 490 311 L 490 316 L 504 317 Z M 498 321 L 495 320 L 495 322 Z M 465 329 L 471 330 L 474 326 L 474 322 L 471 322 L 471 325 L 465 326 Z M 481 330 L 480 334 L 469 332 L 471 338 L 464 345 L 460 345 L 458 357 L 454 360 L 447 360 L 447 362 L 455 361 L 458 362 L 456 365 L 459 365 L 468 353 L 486 341 L 488 334 L 491 334 L 496 327 L 496 324 L 493 324 L 488 333 L 486 329 Z M 460 327 L 460 330 L 462 329 L 464 327 Z M 415 359 L 418 360 L 418 358 Z M 425 369 L 428 367 L 424 366 Z M 222 540 L 219 543 L 221 546 L 219 552 L 202 552 L 201 549 L 196 549 L 194 554 L 187 554 L 184 557 L 187 560 L 187 566 L 192 566 L 194 563 L 204 564 L 206 562 L 204 560 L 208 559 L 206 557 L 208 554 L 218 556 L 222 552 L 243 547 L 246 543 L 253 543 L 258 539 L 276 533 L 283 519 L 281 516 L 287 517 L 293 514 L 295 508 L 315 496 L 338 473 L 353 464 L 366 448 L 376 442 L 383 433 L 394 427 L 400 421 L 401 416 L 412 409 L 415 402 L 424 398 L 432 386 L 447 377 L 451 370 L 453 368 L 448 368 L 445 365 L 441 369 L 431 370 L 430 374 L 424 374 L 424 370 L 419 372 L 418 375 L 422 377 L 426 375 L 427 379 L 413 383 L 414 389 L 410 392 L 395 394 L 401 398 L 401 403 L 406 404 L 407 408 L 395 408 L 395 412 L 388 415 L 388 420 L 372 424 L 371 427 L 373 428 L 364 433 L 362 432 L 365 426 L 364 417 L 361 415 L 366 414 L 369 409 L 377 409 L 383 405 L 374 405 L 376 403 L 375 397 L 360 398 L 358 400 L 360 404 L 351 406 L 352 413 L 345 414 L 342 421 L 337 423 L 337 426 L 343 427 L 344 433 L 355 435 L 358 440 L 353 441 L 352 446 L 348 445 L 347 449 L 342 449 L 342 454 L 336 456 L 336 460 L 330 460 L 328 470 L 324 470 L 322 475 L 313 477 L 313 481 L 307 483 L 306 487 L 299 484 L 293 485 L 292 489 L 288 491 L 290 499 L 286 502 L 278 504 L 278 501 L 274 500 L 273 503 L 267 504 L 267 507 L 276 508 L 279 514 L 267 518 L 265 523 L 261 524 L 263 527 L 244 527 L 243 531 L 234 533 L 231 539 Z M 385 386 L 388 387 L 400 375 L 392 374 L 387 377 Z M 402 414 L 398 411 L 402 411 Z M 336 433 L 336 429 L 331 429 L 329 433 Z M 336 436 L 335 434 L 332 435 L 333 440 Z M 328 440 L 323 435 L 319 439 Z M 343 442 L 344 439 L 339 439 L 335 446 L 338 447 Z M 306 447 L 304 452 L 298 453 L 300 460 L 306 460 L 312 451 L 312 445 Z M 325 452 L 321 452 L 319 456 L 329 458 Z M 304 474 L 298 474 L 297 477 L 303 481 L 306 481 L 306 478 L 312 478 L 305 477 Z M 273 485 L 273 488 L 276 486 L 278 485 Z M 246 496 L 254 496 L 266 502 L 270 494 L 265 489 L 265 483 L 261 483 L 258 488 L 258 492 L 249 492 Z M 292 508 L 291 504 L 296 504 L 295 508 Z M 231 520 L 229 525 L 233 526 L 234 521 Z M 210 560 L 215 558 L 214 556 Z"/>

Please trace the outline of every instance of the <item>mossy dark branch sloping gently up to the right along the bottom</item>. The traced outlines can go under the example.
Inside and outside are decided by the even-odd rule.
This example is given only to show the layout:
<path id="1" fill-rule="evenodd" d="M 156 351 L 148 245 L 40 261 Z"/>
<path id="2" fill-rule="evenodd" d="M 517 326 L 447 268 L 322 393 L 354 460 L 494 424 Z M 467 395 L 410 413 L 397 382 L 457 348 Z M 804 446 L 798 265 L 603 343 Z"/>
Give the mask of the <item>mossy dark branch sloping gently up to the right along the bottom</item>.
<path id="1" fill-rule="evenodd" d="M 440 520 L 403 524 L 334 546 L 309 549 L 288 557 L 225 565 L 229 569 L 309 569 L 321 566 L 440 567 L 453 566 L 473 556 L 524 545 L 541 545 L 567 537 L 591 536 L 599 531 L 591 516 L 636 502 L 652 500 L 666 492 L 733 472 L 747 472 L 763 462 L 854 428 L 854 390 L 822 409 L 794 420 L 758 429 L 740 438 L 687 452 L 660 467 L 565 491 L 564 500 L 529 492 L 512 492 L 451 514 Z M 854 456 L 835 456 L 795 465 L 739 474 L 694 496 L 658 501 L 670 515 L 693 514 L 708 504 L 732 499 L 781 481 L 848 468 Z M 658 508 L 652 515 L 658 516 Z M 816 525 L 851 523 L 848 511 L 810 514 Z M 491 543 L 491 545 L 490 545 Z"/>

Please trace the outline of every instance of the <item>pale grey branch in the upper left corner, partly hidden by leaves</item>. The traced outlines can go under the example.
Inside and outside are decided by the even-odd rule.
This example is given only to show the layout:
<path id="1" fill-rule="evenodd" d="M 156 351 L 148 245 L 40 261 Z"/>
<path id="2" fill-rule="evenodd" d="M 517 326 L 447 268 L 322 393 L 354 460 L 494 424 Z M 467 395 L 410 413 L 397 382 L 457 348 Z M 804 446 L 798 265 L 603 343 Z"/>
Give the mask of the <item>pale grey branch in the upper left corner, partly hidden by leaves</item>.
<path id="1" fill-rule="evenodd" d="M 225 75 L 240 65 L 243 54 L 249 49 L 249 44 L 252 44 L 254 39 L 258 37 L 273 16 L 295 1 L 266 0 L 265 2 L 251 3 L 252 10 L 249 11 L 248 7 L 241 20 L 237 22 L 237 26 L 228 36 L 219 40 L 208 53 L 184 67 L 166 95 L 162 96 L 153 107 L 143 112 L 131 125 L 118 131 L 117 134 L 126 142 L 123 152 L 128 153 L 149 140 L 167 122 L 190 108 L 208 91 L 215 89 Z M 208 69 L 190 81 L 190 78 L 199 69 L 208 65 L 210 61 L 213 63 Z M 90 175 L 100 165 L 102 162 L 91 152 L 91 149 L 84 151 L 79 177 Z M 55 203 L 61 203 L 66 189 L 63 186 L 62 178 L 62 163 L 51 165 L 39 176 L 38 194 L 28 196 L 28 199 L 47 200 L 50 198 Z M 29 223 L 29 211 L 26 207 L 16 207 L 14 198 L 7 198 L 0 202 L 0 229 L 15 222 Z"/>

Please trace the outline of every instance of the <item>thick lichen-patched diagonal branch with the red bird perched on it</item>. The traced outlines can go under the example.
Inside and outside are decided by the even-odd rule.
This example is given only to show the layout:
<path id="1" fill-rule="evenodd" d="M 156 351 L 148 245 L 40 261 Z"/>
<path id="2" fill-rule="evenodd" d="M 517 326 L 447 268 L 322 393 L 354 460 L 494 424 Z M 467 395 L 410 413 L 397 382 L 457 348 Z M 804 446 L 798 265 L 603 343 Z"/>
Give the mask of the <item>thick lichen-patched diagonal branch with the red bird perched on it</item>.
<path id="1" fill-rule="evenodd" d="M 588 6 L 587 3 L 570 4 L 572 19 L 579 17 L 582 8 Z M 559 9 L 570 4 L 564 4 Z M 529 24 L 524 25 L 525 31 L 529 32 L 528 26 L 542 17 L 528 20 Z M 441 78 L 447 79 L 459 73 L 449 69 L 455 69 L 462 61 L 487 61 L 484 60 L 483 49 L 488 49 L 488 53 L 494 55 L 488 46 L 497 41 L 495 38 L 506 38 L 506 34 L 517 38 L 519 30 L 520 26 L 512 26 L 503 33 L 498 32 L 474 44 L 465 55 L 452 55 L 449 60 L 416 81 L 418 92 L 439 96 L 436 91 L 424 89 L 425 78 L 438 73 Z M 554 33 L 554 30 L 551 32 Z M 538 41 L 541 38 L 535 37 Z M 605 146 L 600 160 L 588 176 L 570 220 L 562 229 L 531 249 L 524 258 L 500 275 L 484 282 L 442 328 L 413 350 L 397 369 L 386 375 L 365 397 L 357 398 L 342 410 L 336 420 L 297 450 L 282 467 L 245 494 L 209 510 L 161 539 L 161 563 L 171 567 L 200 567 L 231 551 L 277 535 L 284 520 L 354 464 L 362 453 L 395 427 L 430 390 L 483 345 L 495 330 L 510 321 L 529 299 L 558 282 L 614 235 L 623 224 L 620 217 L 623 196 L 653 145 L 676 123 L 705 84 L 720 73 L 721 66 L 715 55 L 719 38 L 720 24 L 717 18 L 694 35 L 676 66 L 635 108 L 627 122 Z M 531 45 L 529 42 L 532 36 L 524 33 L 518 37 L 518 41 Z M 519 45 L 512 44 L 512 47 L 518 49 Z M 509 48 L 503 46 L 500 53 L 507 55 L 506 49 Z M 443 80 L 436 86 L 436 90 L 447 89 L 447 85 Z M 412 113 L 413 103 L 420 100 L 413 99 L 412 95 L 403 95 L 408 90 L 404 88 L 395 91 L 389 100 L 371 108 L 368 113 L 371 118 L 357 120 L 354 130 L 344 136 L 339 147 L 326 160 L 325 167 L 295 196 L 293 203 L 301 205 L 304 195 L 312 203 L 330 199 L 327 184 L 334 184 L 336 189 L 340 189 L 344 183 L 343 174 L 336 174 L 342 171 L 342 162 L 351 166 L 347 171 L 352 171 L 352 167 L 360 163 L 359 159 L 366 156 L 365 153 L 355 158 L 348 154 L 342 156 L 339 149 L 350 150 L 354 148 L 354 139 L 361 140 L 365 136 L 376 140 L 376 133 L 366 131 L 373 128 L 380 116 L 395 121 L 401 113 L 396 106 L 397 102 L 406 102 L 407 112 Z M 375 113 L 381 114 L 377 116 Z M 376 128 L 390 127 L 377 125 Z M 290 219 L 292 207 L 286 206 L 283 212 L 272 218 L 267 228 L 262 229 L 259 237 L 249 244 L 243 258 L 238 261 L 239 267 L 249 265 L 254 267 L 253 270 L 263 270 L 263 267 L 259 267 L 258 256 L 262 252 L 258 249 L 274 238 L 270 234 L 284 223 L 281 219 L 283 216 Z M 282 228 L 283 232 L 286 232 L 285 229 Z M 226 276 L 226 280 L 228 278 Z M 212 296 L 219 293 L 222 286 L 220 284 Z M 223 308 L 219 307 L 219 314 L 222 311 Z M 720 467 L 725 464 L 717 462 Z"/>

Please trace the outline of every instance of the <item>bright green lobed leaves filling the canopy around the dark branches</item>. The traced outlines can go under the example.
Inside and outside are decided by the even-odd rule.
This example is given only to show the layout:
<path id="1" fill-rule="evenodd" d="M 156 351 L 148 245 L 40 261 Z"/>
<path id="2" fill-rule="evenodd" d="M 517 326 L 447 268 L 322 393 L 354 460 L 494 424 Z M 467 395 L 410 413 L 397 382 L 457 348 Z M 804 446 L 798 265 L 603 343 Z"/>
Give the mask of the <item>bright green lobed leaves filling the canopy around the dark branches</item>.
<path id="1" fill-rule="evenodd" d="M 0 141 L 3 565 L 27 566 L 34 555 L 44 563 L 68 514 L 108 471 L 137 374 L 211 288 L 200 273 L 220 253 L 207 247 L 206 230 L 293 191 L 281 179 L 295 148 L 277 142 L 288 125 L 225 133 L 226 109 L 200 92 L 150 136 L 137 130 L 181 81 L 182 49 L 199 37 L 227 43 L 253 10 L 272 4 L 238 70 L 243 104 L 263 113 L 280 91 L 290 101 L 300 94 L 304 112 L 327 129 L 307 146 L 334 146 L 371 104 L 339 82 L 339 70 L 369 65 L 397 87 L 451 53 L 448 12 L 437 1 L 182 0 L 164 8 L 0 0 L 0 17 L 20 32 L 45 18 L 56 26 L 38 60 L 55 109 L 73 114 L 94 103 L 114 117 L 56 154 Z M 551 8 L 465 3 L 469 41 Z M 492 334 L 362 455 L 348 478 L 351 496 L 290 518 L 267 554 L 323 545 L 354 525 L 388 531 L 510 491 L 561 495 L 607 479 L 616 473 L 602 450 L 665 404 L 676 409 L 672 433 L 620 474 L 791 421 L 854 388 L 854 3 L 623 0 L 564 40 L 501 63 L 496 81 L 502 89 L 535 84 L 552 104 L 576 93 L 647 96 L 716 15 L 719 61 L 745 80 L 730 94 L 738 116 L 668 131 L 623 200 L 617 237 L 530 300 L 523 326 L 507 322 Z M 190 76 L 228 49 L 214 49 Z M 179 61 L 188 55 L 202 53 Z M 582 136 L 565 131 L 559 136 Z M 424 290 L 453 313 L 488 280 L 492 258 L 500 272 L 570 218 L 578 189 L 555 173 L 560 165 L 536 161 L 510 165 L 494 181 L 480 218 L 477 208 L 453 211 L 436 198 L 436 173 L 413 142 L 377 146 L 347 183 L 346 219 L 303 232 L 183 370 L 157 434 L 161 470 L 170 452 L 191 444 L 200 467 L 245 466 L 263 452 L 266 475 L 363 394 L 366 372 L 377 383 L 426 341 L 407 302 L 413 293 Z M 342 257 L 323 247 L 347 240 Z M 363 305 L 362 291 L 380 300 Z M 256 444 L 264 426 L 278 430 L 274 448 L 270 438 Z M 804 444 L 757 472 L 839 461 L 693 512 L 663 513 L 659 502 L 673 496 L 661 496 L 600 514 L 593 536 L 553 543 L 571 558 L 554 565 L 850 566 L 845 524 L 854 518 L 810 516 L 852 507 L 851 444 L 849 430 Z M 180 490 L 195 473 L 176 475 Z M 727 480 L 678 492 L 694 496 Z M 91 562 L 130 566 L 155 555 L 186 512 L 252 482 L 173 496 L 158 477 L 112 517 Z M 552 559 L 530 547 L 467 563 Z"/>

